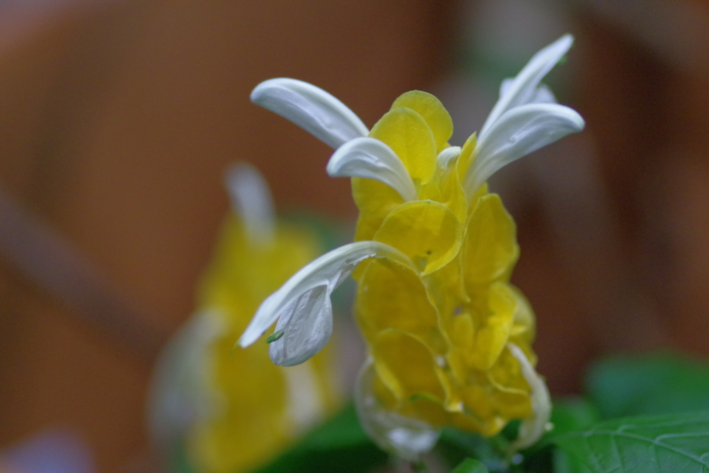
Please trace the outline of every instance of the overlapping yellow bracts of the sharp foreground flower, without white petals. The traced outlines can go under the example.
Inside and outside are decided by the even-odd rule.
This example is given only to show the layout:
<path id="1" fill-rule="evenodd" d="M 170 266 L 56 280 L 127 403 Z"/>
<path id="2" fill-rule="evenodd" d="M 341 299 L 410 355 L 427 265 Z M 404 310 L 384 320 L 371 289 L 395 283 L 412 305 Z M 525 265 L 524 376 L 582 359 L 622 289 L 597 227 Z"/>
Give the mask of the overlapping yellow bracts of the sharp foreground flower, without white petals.
<path id="1" fill-rule="evenodd" d="M 421 91 L 396 99 L 372 129 L 401 158 L 418 199 L 403 202 L 385 184 L 352 179 L 355 239 L 396 247 L 418 271 L 364 262 L 355 273 L 355 315 L 381 404 L 434 427 L 493 435 L 532 413 L 530 386 L 508 343 L 535 364 L 534 314 L 509 282 L 519 256 L 513 219 L 486 185 L 471 199 L 461 186 L 475 135 L 447 165 L 437 163 L 452 130 L 440 101 Z"/>

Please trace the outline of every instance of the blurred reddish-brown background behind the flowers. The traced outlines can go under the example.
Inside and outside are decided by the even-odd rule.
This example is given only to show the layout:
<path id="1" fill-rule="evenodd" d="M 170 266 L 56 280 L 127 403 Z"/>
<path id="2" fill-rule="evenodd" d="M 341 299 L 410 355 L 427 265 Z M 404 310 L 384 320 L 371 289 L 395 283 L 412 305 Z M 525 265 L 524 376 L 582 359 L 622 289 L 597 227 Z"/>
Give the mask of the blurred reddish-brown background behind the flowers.
<path id="1" fill-rule="evenodd" d="M 430 91 L 460 145 L 566 32 L 547 83 L 586 130 L 491 182 L 557 395 L 603 353 L 709 355 L 705 1 L 0 0 L 4 457 L 54 435 L 91 459 L 74 471 L 145 470 L 151 368 L 194 308 L 230 162 L 261 169 L 277 208 L 353 228 L 330 149 L 252 105 L 256 84 L 312 82 L 367 126 Z"/>

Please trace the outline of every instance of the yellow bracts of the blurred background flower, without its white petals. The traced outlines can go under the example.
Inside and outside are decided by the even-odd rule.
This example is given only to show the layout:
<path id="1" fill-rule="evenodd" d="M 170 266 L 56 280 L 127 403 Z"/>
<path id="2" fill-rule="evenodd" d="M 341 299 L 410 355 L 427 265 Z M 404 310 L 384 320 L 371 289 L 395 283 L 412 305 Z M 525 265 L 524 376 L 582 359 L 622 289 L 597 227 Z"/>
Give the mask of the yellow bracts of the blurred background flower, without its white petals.
<path id="1" fill-rule="evenodd" d="M 202 280 L 199 307 L 218 318 L 223 329 L 211 342 L 203 367 L 211 380 L 209 416 L 200 419 L 187 448 L 201 472 L 234 473 L 258 467 L 301 433 L 294 416 L 289 379 L 268 356 L 267 343 L 234 350 L 259 304 L 297 269 L 318 255 L 316 238 L 294 226 L 279 226 L 272 245 L 249 242 L 234 216 L 228 216 L 210 267 Z M 327 348 L 298 369 L 309 370 L 320 414 L 333 408 L 335 393 Z M 316 421 L 317 419 L 311 419 Z"/>

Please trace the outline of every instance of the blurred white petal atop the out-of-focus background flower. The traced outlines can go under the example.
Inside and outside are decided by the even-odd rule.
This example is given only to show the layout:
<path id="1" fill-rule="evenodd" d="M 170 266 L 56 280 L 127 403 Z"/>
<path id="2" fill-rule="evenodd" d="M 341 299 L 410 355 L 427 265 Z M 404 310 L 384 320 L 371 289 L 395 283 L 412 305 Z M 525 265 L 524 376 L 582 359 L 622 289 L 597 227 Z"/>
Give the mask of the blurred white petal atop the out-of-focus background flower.
<path id="1" fill-rule="evenodd" d="M 224 179 L 232 208 L 241 217 L 250 243 L 271 244 L 275 226 L 273 201 L 261 173 L 252 165 L 239 162 L 228 167 Z"/>

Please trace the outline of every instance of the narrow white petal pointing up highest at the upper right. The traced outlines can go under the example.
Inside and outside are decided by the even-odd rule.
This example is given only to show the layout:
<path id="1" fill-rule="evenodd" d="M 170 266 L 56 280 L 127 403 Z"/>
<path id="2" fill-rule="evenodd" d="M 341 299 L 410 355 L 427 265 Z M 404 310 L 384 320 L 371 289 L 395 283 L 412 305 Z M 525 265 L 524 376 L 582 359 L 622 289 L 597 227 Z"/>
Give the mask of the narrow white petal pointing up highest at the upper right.
<path id="1" fill-rule="evenodd" d="M 493 107 L 483 128 L 480 130 L 480 138 L 488 132 L 489 128 L 500 118 L 503 113 L 516 106 L 533 103 L 533 97 L 537 94 L 537 86 L 547 73 L 566 54 L 574 43 L 574 37 L 563 35 L 554 43 L 543 48 L 532 56 L 527 65 L 523 67 L 517 77 L 512 82 L 503 84 L 500 99 Z"/>

